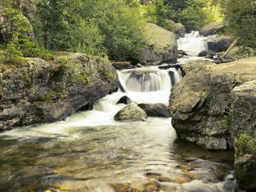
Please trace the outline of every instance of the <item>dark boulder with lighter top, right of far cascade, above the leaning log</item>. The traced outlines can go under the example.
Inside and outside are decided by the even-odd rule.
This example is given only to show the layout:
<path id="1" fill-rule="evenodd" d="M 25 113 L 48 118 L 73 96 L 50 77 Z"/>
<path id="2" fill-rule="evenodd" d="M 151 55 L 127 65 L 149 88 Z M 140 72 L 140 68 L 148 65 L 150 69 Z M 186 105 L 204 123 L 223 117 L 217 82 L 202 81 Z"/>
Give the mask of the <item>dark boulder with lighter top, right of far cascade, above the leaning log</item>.
<path id="1" fill-rule="evenodd" d="M 222 52 L 227 50 L 232 44 L 233 39 L 229 36 L 221 36 L 214 38 L 210 42 L 207 42 L 208 50 L 213 52 Z"/>

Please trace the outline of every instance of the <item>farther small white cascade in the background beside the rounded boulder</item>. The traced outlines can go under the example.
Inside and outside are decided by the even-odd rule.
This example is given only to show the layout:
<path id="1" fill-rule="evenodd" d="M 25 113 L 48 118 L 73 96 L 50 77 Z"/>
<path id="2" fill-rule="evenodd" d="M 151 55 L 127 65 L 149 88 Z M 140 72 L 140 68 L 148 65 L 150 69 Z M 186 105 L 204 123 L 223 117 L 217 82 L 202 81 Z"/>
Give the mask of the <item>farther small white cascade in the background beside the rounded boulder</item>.
<path id="1" fill-rule="evenodd" d="M 196 57 L 202 50 L 208 50 L 206 41 L 207 38 L 200 36 L 198 31 L 192 31 L 178 39 L 178 50 L 184 50 L 186 54 Z"/>

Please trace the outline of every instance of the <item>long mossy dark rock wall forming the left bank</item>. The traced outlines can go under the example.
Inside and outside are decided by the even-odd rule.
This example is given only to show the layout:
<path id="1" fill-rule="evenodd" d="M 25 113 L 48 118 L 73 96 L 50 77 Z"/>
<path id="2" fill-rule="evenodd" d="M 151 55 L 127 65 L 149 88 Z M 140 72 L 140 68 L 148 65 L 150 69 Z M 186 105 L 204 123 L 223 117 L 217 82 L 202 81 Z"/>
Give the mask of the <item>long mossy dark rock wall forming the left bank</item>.
<path id="1" fill-rule="evenodd" d="M 104 58 L 0 65 L 0 130 L 63 120 L 116 90 L 118 76 Z"/>

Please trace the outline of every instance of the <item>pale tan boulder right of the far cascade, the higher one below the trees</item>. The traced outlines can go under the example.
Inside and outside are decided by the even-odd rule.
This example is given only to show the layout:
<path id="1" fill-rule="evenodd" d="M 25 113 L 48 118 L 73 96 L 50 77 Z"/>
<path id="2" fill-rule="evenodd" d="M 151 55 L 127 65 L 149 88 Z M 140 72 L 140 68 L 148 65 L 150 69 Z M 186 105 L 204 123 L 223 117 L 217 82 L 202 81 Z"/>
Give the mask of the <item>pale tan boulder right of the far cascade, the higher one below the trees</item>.
<path id="1" fill-rule="evenodd" d="M 208 36 L 212 34 L 223 33 L 225 30 L 225 25 L 223 22 L 213 22 L 207 26 L 202 27 L 199 34 L 203 36 Z"/>

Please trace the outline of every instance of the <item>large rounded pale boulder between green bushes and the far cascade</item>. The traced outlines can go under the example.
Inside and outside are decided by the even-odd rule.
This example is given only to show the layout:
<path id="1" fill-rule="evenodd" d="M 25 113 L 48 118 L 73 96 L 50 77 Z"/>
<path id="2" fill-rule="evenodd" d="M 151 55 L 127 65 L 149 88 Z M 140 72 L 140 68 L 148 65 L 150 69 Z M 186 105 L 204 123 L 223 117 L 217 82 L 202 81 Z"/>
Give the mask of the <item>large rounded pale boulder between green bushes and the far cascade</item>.
<path id="1" fill-rule="evenodd" d="M 138 55 L 142 64 L 176 62 L 178 44 L 174 33 L 152 23 L 146 24 L 146 47 Z"/>

